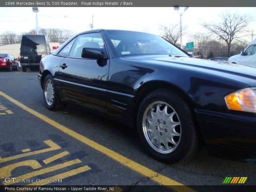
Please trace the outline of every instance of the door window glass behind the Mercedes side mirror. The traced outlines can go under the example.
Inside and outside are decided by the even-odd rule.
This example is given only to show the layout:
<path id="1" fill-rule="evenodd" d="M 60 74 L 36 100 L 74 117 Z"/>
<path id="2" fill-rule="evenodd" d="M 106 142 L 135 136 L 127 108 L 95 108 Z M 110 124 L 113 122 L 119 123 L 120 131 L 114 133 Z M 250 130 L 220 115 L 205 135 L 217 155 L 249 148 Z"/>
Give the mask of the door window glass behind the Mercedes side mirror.
<path id="1" fill-rule="evenodd" d="M 99 33 L 83 34 L 76 38 L 74 46 L 72 47 L 69 56 L 82 58 L 81 52 L 84 47 L 88 48 L 105 48 L 102 37 Z"/>

